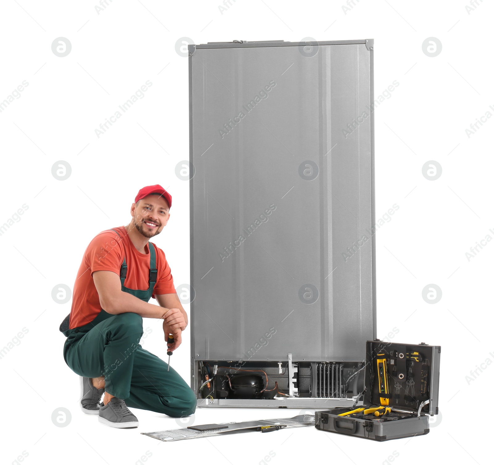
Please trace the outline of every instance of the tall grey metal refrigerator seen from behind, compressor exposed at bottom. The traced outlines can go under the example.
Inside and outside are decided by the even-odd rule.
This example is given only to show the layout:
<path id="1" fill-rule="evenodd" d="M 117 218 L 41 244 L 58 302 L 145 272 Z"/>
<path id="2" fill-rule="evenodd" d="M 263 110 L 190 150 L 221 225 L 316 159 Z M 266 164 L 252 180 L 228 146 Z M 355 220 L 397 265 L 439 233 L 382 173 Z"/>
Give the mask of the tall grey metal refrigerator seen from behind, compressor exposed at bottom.
<path id="1" fill-rule="evenodd" d="M 189 45 L 199 406 L 350 406 L 375 338 L 373 40 Z"/>

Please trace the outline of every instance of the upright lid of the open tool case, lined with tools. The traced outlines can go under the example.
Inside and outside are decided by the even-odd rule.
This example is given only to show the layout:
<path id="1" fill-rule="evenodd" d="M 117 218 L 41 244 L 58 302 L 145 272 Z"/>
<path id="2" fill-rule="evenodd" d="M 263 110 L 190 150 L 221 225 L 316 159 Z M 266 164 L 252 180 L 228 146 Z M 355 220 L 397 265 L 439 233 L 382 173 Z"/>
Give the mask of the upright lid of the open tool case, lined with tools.
<path id="1" fill-rule="evenodd" d="M 364 404 L 381 405 L 383 397 L 391 407 L 416 412 L 422 405 L 421 412 L 437 415 L 440 354 L 441 346 L 367 341 Z M 379 391 L 378 359 L 386 359 L 388 395 Z"/>

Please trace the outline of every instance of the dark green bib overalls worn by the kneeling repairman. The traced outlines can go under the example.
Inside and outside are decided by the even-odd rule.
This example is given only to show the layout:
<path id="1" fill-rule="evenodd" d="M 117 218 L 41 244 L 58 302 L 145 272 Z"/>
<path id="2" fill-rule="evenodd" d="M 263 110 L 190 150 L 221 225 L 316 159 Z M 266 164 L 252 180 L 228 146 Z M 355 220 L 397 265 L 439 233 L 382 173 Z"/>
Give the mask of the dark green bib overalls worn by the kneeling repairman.
<path id="1" fill-rule="evenodd" d="M 120 269 L 122 290 L 144 302 L 149 302 L 158 274 L 154 246 L 151 242 L 148 245 L 148 289 L 134 290 L 124 286 L 125 258 Z M 124 399 L 128 407 L 170 417 L 195 412 L 197 399 L 193 390 L 171 366 L 167 371 L 167 363 L 139 344 L 143 335 L 142 316 L 132 312 L 112 315 L 101 310 L 90 323 L 73 329 L 69 329 L 69 316 L 70 313 L 60 325 L 60 331 L 67 337 L 63 355 L 72 371 L 87 378 L 104 375 L 105 391 Z"/>

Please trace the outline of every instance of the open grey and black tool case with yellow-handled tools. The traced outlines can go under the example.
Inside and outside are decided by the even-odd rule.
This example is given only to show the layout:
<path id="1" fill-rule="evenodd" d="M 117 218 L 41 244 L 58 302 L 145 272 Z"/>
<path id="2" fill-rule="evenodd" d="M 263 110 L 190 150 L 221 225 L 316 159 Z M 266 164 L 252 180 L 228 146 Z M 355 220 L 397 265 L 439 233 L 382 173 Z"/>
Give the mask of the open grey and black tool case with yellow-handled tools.
<path id="1" fill-rule="evenodd" d="M 366 348 L 363 405 L 316 412 L 315 427 L 376 441 L 427 434 L 438 413 L 441 346 L 375 340 Z"/>

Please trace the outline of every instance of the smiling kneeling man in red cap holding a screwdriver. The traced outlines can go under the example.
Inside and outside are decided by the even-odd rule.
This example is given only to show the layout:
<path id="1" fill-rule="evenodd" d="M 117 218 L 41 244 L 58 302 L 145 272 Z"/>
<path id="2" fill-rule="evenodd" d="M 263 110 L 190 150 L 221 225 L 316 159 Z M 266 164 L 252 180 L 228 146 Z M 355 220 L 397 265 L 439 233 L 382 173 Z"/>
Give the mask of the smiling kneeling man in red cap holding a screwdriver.
<path id="1" fill-rule="evenodd" d="M 143 317 L 163 319 L 165 340 L 174 337 L 168 343 L 171 351 L 180 346 L 188 324 L 165 254 L 149 242 L 165 228 L 170 207 L 165 189 L 147 186 L 136 195 L 127 226 L 91 240 L 77 273 L 71 312 L 60 325 L 67 336 L 65 362 L 81 377 L 81 409 L 108 426 L 138 426 L 127 406 L 170 417 L 196 409 L 187 383 L 139 344 Z M 160 306 L 149 304 L 151 297 Z"/>

